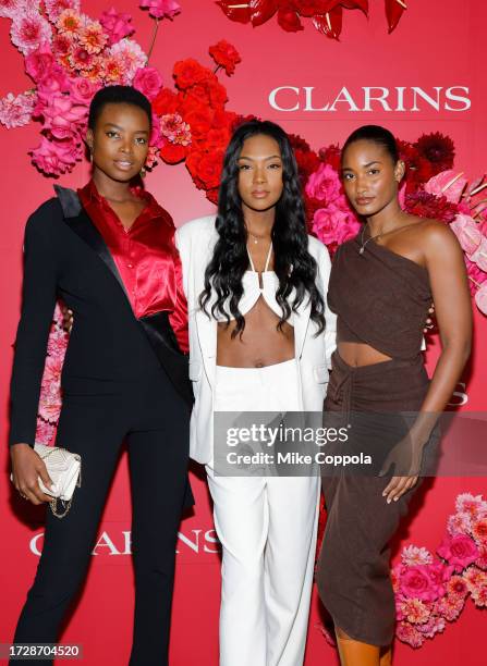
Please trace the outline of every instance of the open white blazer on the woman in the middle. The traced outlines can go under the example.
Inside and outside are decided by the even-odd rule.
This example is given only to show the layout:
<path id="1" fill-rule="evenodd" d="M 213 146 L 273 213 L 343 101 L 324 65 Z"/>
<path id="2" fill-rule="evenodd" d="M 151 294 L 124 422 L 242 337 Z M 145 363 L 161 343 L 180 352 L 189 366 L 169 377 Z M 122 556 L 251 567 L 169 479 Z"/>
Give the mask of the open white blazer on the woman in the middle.
<path id="1" fill-rule="evenodd" d="M 217 321 L 200 309 L 205 270 L 218 233 L 216 217 L 199 218 L 180 226 L 175 244 L 183 266 L 183 288 L 187 299 L 190 325 L 190 379 L 195 404 L 191 415 L 190 455 L 206 465 L 212 457 L 214 395 L 217 363 Z M 326 303 L 330 257 L 319 240 L 308 236 L 308 250 L 318 264 L 317 287 Z M 294 317 L 294 349 L 299 367 L 302 409 L 321 411 L 328 384 L 330 357 L 336 348 L 336 316 L 326 306 L 326 330 L 315 337 L 316 323 L 304 299 Z"/>

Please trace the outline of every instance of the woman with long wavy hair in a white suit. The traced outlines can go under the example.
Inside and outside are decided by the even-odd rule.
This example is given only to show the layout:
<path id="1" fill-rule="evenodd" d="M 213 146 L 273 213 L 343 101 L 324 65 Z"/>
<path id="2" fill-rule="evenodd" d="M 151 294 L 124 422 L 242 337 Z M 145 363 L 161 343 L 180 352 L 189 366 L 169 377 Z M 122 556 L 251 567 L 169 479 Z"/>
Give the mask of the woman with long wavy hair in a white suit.
<path id="1" fill-rule="evenodd" d="M 217 217 L 176 232 L 190 316 L 191 455 L 223 548 L 221 666 L 303 663 L 318 476 L 216 472 L 216 412 L 320 412 L 334 349 L 330 260 L 306 233 L 285 133 L 251 121 L 228 147 Z"/>

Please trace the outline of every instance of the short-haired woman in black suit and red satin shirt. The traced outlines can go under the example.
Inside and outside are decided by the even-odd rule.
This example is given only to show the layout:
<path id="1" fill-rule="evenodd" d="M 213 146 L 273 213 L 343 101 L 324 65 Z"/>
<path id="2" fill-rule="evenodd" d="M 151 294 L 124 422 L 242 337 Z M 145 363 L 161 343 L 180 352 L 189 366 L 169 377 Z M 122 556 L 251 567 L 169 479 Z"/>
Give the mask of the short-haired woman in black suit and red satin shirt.
<path id="1" fill-rule="evenodd" d="M 135 568 L 130 664 L 168 663 L 174 554 L 187 488 L 187 314 L 170 215 L 142 188 L 149 101 L 129 86 L 95 96 L 86 143 L 93 177 L 57 188 L 25 232 L 22 317 L 11 384 L 15 488 L 40 504 L 37 404 L 56 300 L 74 313 L 56 444 L 82 457 L 82 486 L 62 520 L 47 511 L 44 551 L 15 643 L 57 642 L 94 547 L 122 441 L 129 449 Z M 45 664 L 46 661 L 42 661 Z"/>

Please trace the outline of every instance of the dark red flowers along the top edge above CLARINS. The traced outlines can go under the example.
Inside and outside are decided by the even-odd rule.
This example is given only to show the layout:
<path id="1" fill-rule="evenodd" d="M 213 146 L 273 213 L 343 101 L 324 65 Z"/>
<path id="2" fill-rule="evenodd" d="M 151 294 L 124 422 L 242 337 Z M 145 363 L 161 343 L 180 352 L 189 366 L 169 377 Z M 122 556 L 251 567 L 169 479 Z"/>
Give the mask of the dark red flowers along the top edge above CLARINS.
<path id="1" fill-rule="evenodd" d="M 361 10 L 368 16 L 368 0 L 219 0 L 217 2 L 231 20 L 257 27 L 277 14 L 278 24 L 288 33 L 303 30 L 301 18 L 312 18 L 313 25 L 330 39 L 340 39 L 343 10 Z M 389 33 L 398 25 L 407 9 L 404 0 L 386 0 Z"/>

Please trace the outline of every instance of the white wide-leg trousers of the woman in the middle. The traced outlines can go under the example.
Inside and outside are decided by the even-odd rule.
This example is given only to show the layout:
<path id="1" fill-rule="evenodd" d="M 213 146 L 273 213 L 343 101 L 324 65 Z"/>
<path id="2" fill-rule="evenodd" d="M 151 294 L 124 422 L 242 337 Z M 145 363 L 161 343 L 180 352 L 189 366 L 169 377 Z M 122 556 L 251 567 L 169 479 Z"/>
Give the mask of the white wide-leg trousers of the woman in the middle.
<path id="1" fill-rule="evenodd" d="M 216 411 L 299 411 L 294 360 L 217 367 Z M 301 666 L 318 521 L 318 477 L 221 477 L 207 466 L 223 548 L 220 666 Z"/>

